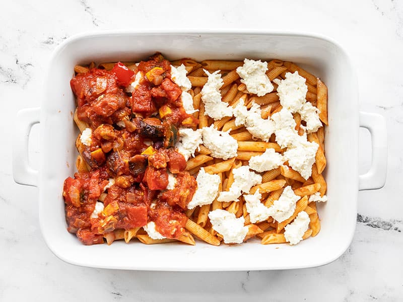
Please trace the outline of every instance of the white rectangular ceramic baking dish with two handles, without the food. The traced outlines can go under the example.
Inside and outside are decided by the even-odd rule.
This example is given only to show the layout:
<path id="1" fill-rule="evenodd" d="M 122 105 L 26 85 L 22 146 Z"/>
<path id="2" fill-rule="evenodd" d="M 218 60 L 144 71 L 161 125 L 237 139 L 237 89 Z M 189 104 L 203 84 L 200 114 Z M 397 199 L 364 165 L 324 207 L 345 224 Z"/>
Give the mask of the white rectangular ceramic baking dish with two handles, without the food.
<path id="1" fill-rule="evenodd" d="M 318 236 L 289 245 L 210 246 L 183 244 L 84 246 L 66 231 L 62 185 L 75 172 L 78 129 L 70 88 L 73 67 L 92 60 L 140 60 L 155 51 L 168 59 L 191 57 L 241 60 L 279 58 L 301 64 L 329 89 L 329 127 L 325 145 L 328 202 L 319 207 Z M 41 108 L 21 110 L 15 124 L 13 173 L 16 182 L 39 187 L 39 219 L 43 237 L 60 259 L 77 265 L 132 270 L 229 271 L 314 267 L 329 263 L 349 247 L 356 225 L 358 190 L 380 188 L 386 178 L 386 125 L 377 114 L 358 111 L 354 70 L 344 50 L 317 35 L 267 32 L 103 32 L 82 34 L 59 45 L 44 79 Z M 28 136 L 40 122 L 41 164 L 28 164 Z M 359 127 L 372 134 L 372 167 L 358 175 Z"/>

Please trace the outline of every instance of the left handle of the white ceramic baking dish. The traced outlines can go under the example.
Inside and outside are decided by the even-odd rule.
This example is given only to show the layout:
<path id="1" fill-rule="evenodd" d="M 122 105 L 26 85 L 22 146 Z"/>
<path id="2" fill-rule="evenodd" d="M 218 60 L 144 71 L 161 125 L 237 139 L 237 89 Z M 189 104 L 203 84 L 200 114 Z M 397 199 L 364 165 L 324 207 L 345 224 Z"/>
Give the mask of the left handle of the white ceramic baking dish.
<path id="1" fill-rule="evenodd" d="M 17 113 L 13 137 L 13 177 L 16 183 L 38 186 L 39 172 L 32 169 L 28 161 L 28 139 L 33 125 L 40 121 L 40 108 L 22 109 Z"/>

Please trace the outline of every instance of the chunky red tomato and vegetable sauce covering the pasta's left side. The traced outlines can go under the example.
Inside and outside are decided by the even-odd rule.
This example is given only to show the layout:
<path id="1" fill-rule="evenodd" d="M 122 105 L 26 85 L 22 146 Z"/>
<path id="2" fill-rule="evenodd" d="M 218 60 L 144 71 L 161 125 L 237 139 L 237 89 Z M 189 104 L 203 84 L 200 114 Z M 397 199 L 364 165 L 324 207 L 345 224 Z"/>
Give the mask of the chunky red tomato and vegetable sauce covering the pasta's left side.
<path id="1" fill-rule="evenodd" d="M 89 145 L 77 140 L 90 171 L 68 177 L 63 186 L 68 231 L 85 245 L 150 221 L 167 238 L 184 232 L 184 210 L 197 184 L 174 146 L 178 128 L 198 121 L 183 109 L 182 90 L 172 82 L 170 66 L 156 54 L 135 70 L 119 62 L 110 71 L 93 68 L 70 82 L 78 118 L 92 129 Z M 176 174 L 170 190 L 168 173 Z M 102 193 L 103 209 L 95 210 Z"/>

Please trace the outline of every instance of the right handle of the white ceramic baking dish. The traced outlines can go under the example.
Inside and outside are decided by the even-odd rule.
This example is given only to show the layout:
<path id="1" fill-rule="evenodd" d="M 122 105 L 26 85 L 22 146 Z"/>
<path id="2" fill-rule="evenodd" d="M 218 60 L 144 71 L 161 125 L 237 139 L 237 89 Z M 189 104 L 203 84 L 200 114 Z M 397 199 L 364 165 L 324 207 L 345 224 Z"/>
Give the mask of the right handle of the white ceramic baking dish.
<path id="1" fill-rule="evenodd" d="M 387 137 L 385 118 L 376 113 L 360 111 L 360 127 L 367 128 L 372 139 L 371 169 L 359 176 L 359 190 L 380 189 L 385 185 Z"/>

